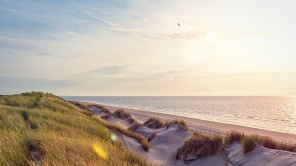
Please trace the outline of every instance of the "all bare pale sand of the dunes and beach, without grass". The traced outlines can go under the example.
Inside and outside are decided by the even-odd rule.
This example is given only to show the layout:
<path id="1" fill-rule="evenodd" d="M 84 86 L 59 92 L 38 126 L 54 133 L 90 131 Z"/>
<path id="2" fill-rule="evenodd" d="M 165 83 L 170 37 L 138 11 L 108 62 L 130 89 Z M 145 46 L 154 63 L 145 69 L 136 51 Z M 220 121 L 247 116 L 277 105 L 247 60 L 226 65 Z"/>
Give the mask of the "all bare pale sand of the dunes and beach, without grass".
<path id="1" fill-rule="evenodd" d="M 90 104 L 81 102 L 84 105 Z M 111 112 L 116 111 L 119 108 L 104 106 Z M 99 110 L 91 108 L 99 115 Z M 149 117 L 157 117 L 161 120 L 167 121 L 172 119 L 183 119 L 187 122 L 188 126 L 206 133 L 206 134 L 225 134 L 229 130 L 239 130 L 247 134 L 260 134 L 274 137 L 276 140 L 291 140 L 296 142 L 296 135 L 286 134 L 232 124 L 223 124 L 218 122 L 211 122 L 206 120 L 187 118 L 182 116 L 168 115 L 163 113 L 155 113 L 148 111 L 138 111 L 131 109 L 124 109 L 134 116 L 134 119 L 138 122 L 145 122 Z M 108 120 L 108 119 L 107 119 Z M 122 119 L 111 118 L 108 121 L 117 123 L 127 128 L 130 126 L 128 121 Z M 225 148 L 224 153 L 219 153 L 214 156 L 210 156 L 204 159 L 196 159 L 189 163 L 184 163 L 183 160 L 175 161 L 175 155 L 177 150 L 184 144 L 186 137 L 191 135 L 191 131 L 188 131 L 177 124 L 173 124 L 168 128 L 162 127 L 158 129 L 150 129 L 145 126 L 140 126 L 137 133 L 148 138 L 153 132 L 156 133 L 156 137 L 149 142 L 149 151 L 146 152 L 142 148 L 141 144 L 130 137 L 122 134 L 118 134 L 121 142 L 129 148 L 132 148 L 148 158 L 148 160 L 157 162 L 163 166 L 296 166 L 296 153 L 287 152 L 281 150 L 267 149 L 265 147 L 256 145 L 255 149 L 251 152 L 244 154 L 243 148 L 238 143 Z M 196 158 L 196 157 L 192 157 Z"/>

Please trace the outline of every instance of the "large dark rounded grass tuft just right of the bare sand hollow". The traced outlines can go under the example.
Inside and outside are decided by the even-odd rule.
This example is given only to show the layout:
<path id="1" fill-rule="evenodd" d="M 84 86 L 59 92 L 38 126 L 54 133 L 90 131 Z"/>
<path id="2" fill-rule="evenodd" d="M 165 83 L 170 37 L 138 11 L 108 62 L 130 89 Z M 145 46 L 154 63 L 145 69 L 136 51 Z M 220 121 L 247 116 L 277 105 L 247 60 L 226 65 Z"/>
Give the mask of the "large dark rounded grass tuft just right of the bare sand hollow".
<path id="1" fill-rule="evenodd" d="M 184 163 L 188 163 L 192 160 L 206 158 L 215 155 L 222 150 L 222 144 L 217 140 L 208 138 L 200 138 L 201 135 L 193 135 L 187 139 L 183 146 L 178 149 L 175 160 L 183 158 Z M 190 156 L 191 159 L 187 159 Z M 195 156 L 195 159 L 192 157 Z"/>

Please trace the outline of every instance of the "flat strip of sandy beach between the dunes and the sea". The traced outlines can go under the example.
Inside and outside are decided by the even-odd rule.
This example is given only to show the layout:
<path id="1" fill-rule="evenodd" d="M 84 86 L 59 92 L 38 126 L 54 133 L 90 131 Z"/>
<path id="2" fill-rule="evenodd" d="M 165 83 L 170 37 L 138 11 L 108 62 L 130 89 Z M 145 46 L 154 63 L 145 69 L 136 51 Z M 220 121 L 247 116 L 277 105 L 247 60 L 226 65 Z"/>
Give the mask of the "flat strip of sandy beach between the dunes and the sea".
<path id="1" fill-rule="evenodd" d="M 137 120 L 140 123 L 145 122 L 146 120 L 149 119 L 149 117 L 157 117 L 162 121 L 182 119 L 187 123 L 189 128 L 192 128 L 193 130 L 196 130 L 196 131 L 204 133 L 204 134 L 225 135 L 227 131 L 237 130 L 237 131 L 242 131 L 245 134 L 258 134 L 258 135 L 262 135 L 262 136 L 269 136 L 269 137 L 274 138 L 278 142 L 285 140 L 288 142 L 296 143 L 296 135 L 289 134 L 289 133 L 269 131 L 269 130 L 264 130 L 264 129 L 240 126 L 240 125 L 235 125 L 235 124 L 227 124 L 227 123 L 221 123 L 221 122 L 214 122 L 214 121 L 207 121 L 207 120 L 202 120 L 202 119 L 196 119 L 196 118 L 190 118 L 190 117 L 184 117 L 184 116 L 178 116 L 178 115 L 171 115 L 171 114 L 165 114 L 165 113 L 133 110 L 133 109 L 126 109 L 126 108 L 121 108 L 121 107 L 114 107 L 114 106 L 106 106 L 106 105 L 101 105 L 101 104 L 96 104 L 96 103 L 91 103 L 91 102 L 80 102 L 80 101 L 76 101 L 76 102 L 79 102 L 84 105 L 95 104 L 95 105 L 103 106 L 110 111 L 124 109 L 124 111 L 130 113 L 135 118 L 135 120 Z"/>

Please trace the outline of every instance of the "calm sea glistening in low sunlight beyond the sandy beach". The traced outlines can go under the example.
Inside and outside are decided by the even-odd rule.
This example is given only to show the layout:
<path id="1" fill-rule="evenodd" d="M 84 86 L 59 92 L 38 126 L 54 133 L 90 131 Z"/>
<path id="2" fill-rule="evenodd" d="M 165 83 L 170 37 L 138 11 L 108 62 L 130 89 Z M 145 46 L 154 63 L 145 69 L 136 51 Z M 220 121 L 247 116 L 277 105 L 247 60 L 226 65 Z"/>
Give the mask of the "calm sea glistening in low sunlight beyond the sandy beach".
<path id="1" fill-rule="evenodd" d="M 61 97 L 296 134 L 296 96 Z"/>

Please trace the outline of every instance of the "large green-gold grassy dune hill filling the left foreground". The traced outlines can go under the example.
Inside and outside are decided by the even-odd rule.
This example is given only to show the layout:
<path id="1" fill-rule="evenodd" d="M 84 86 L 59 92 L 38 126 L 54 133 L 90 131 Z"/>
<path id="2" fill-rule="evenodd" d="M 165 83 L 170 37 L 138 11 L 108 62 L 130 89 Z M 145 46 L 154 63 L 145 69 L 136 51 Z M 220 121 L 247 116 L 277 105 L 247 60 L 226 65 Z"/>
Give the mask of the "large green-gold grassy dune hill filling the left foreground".
<path id="1" fill-rule="evenodd" d="M 0 166 L 153 166 L 98 121 L 52 94 L 0 96 Z"/>

